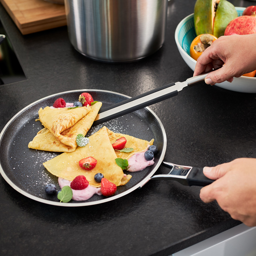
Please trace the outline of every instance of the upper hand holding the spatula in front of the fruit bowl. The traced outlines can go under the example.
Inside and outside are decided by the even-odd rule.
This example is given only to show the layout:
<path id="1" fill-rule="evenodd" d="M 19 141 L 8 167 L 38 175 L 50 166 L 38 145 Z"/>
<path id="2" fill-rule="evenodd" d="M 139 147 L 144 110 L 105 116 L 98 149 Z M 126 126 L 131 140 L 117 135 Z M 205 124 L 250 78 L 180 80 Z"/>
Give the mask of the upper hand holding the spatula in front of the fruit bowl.
<path id="1" fill-rule="evenodd" d="M 219 37 L 197 59 L 194 76 L 221 67 L 205 78 L 205 83 L 214 85 L 256 70 L 255 45 L 256 34 Z"/>

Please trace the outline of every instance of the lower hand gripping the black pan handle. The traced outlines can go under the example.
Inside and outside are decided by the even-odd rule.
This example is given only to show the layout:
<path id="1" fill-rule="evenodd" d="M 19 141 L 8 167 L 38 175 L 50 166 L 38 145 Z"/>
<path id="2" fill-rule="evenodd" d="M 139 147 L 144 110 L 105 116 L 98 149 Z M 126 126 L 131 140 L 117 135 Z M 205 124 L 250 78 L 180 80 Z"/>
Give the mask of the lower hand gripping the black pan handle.
<path id="1" fill-rule="evenodd" d="M 205 167 L 204 175 L 216 180 L 201 189 L 202 201 L 216 200 L 233 219 L 256 226 L 255 158 L 237 158 L 215 167 Z"/>

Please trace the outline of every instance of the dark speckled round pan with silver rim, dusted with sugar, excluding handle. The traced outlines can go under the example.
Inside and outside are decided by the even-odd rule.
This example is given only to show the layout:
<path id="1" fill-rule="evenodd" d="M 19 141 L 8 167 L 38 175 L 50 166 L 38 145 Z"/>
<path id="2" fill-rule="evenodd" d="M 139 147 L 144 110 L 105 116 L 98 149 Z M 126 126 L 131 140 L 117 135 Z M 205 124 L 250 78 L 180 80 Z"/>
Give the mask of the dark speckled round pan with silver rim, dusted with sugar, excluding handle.
<path id="1" fill-rule="evenodd" d="M 73 90 L 53 94 L 22 109 L 4 127 L 0 134 L 0 173 L 21 194 L 51 205 L 85 206 L 100 204 L 124 196 L 138 188 L 156 172 L 161 164 L 166 150 L 165 130 L 156 114 L 149 108 L 143 108 L 91 127 L 86 136 L 97 132 L 105 125 L 116 133 L 129 134 L 147 141 L 154 138 L 154 145 L 158 148 L 154 165 L 139 172 L 124 171 L 125 174 L 131 174 L 132 178 L 126 185 L 119 186 L 112 197 L 93 195 L 86 201 L 71 200 L 69 203 L 60 203 L 57 195 L 47 195 L 44 191 L 46 184 L 52 183 L 56 185 L 58 190 L 60 188 L 58 178 L 49 173 L 42 164 L 61 153 L 28 148 L 28 143 L 43 128 L 40 122 L 35 122 L 35 119 L 38 118 L 38 110 L 41 107 L 51 106 L 60 97 L 66 102 L 74 102 L 84 91 L 89 92 L 94 100 L 101 101 L 102 109 L 130 98 L 123 94 L 103 90 Z"/>

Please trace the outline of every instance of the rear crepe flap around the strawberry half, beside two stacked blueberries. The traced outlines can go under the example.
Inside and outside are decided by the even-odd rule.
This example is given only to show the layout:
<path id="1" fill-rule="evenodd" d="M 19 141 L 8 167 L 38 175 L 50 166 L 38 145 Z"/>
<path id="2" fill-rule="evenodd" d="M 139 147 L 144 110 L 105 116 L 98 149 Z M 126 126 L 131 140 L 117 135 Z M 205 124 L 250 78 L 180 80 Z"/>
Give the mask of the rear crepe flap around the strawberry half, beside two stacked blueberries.
<path id="1" fill-rule="evenodd" d="M 135 137 L 127 135 L 127 134 L 114 133 L 114 132 L 110 131 L 108 128 L 107 128 L 107 132 L 108 132 L 111 144 L 113 144 L 116 140 L 118 140 L 122 137 L 126 138 L 127 142 L 125 144 L 125 147 L 131 147 L 131 148 L 133 148 L 133 151 L 132 152 L 120 152 L 120 151 L 115 150 L 115 153 L 118 158 L 123 158 L 123 159 L 127 159 L 127 160 L 132 155 L 146 150 L 149 146 L 153 145 L 153 142 L 154 142 L 154 139 L 152 139 L 151 141 L 146 141 L 146 140 L 141 140 L 141 139 L 135 138 Z"/>

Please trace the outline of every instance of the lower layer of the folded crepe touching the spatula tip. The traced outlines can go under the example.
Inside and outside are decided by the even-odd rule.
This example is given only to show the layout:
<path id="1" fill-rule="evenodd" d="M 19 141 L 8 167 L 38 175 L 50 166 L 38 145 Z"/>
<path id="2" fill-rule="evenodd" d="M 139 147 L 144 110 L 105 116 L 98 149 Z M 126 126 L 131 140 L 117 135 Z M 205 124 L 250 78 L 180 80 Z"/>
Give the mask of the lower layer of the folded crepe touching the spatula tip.
<path id="1" fill-rule="evenodd" d="M 69 145 L 60 142 L 47 128 L 40 130 L 33 141 L 28 144 L 29 148 L 53 152 L 73 152 L 77 147 L 76 137 L 78 134 L 85 136 L 92 126 L 102 103 L 97 102 L 91 106 L 86 116 L 80 119 L 73 126 L 60 133 L 61 136 L 69 139 Z"/>

